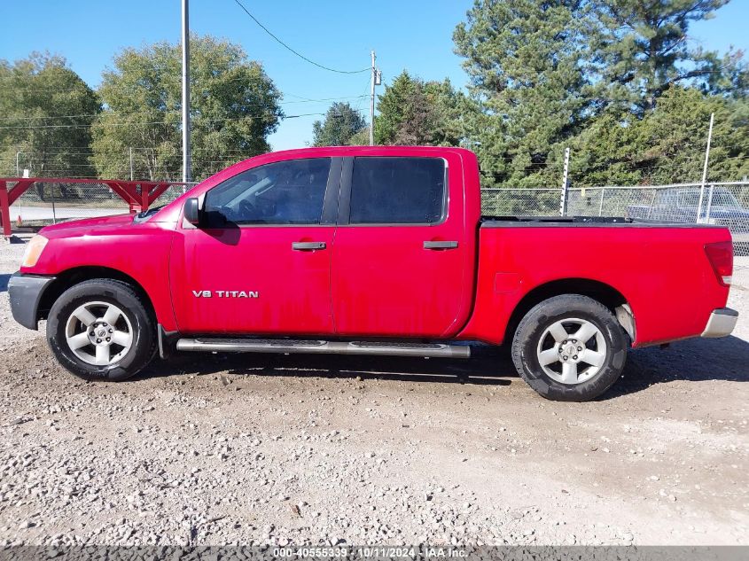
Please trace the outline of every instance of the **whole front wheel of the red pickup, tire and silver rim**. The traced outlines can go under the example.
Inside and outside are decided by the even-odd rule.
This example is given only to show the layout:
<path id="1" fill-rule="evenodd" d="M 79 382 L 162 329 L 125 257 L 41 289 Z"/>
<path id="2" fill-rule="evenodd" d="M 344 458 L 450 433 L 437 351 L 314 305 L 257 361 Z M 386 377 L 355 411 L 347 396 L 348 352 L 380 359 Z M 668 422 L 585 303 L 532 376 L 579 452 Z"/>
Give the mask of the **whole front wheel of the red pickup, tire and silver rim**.
<path id="1" fill-rule="evenodd" d="M 47 341 L 60 364 L 76 376 L 116 382 L 151 362 L 156 328 L 129 284 L 97 279 L 75 284 L 55 301 Z"/>

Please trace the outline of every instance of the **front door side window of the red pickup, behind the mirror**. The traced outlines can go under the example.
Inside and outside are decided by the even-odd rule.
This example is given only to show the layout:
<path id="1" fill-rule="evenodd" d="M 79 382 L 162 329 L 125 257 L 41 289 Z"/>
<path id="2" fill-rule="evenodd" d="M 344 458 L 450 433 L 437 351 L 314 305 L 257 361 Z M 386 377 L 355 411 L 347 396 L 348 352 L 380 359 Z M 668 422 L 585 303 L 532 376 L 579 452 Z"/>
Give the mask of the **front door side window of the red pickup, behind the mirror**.
<path id="1" fill-rule="evenodd" d="M 330 158 L 311 158 L 243 171 L 207 192 L 207 223 L 319 224 L 330 169 Z"/>

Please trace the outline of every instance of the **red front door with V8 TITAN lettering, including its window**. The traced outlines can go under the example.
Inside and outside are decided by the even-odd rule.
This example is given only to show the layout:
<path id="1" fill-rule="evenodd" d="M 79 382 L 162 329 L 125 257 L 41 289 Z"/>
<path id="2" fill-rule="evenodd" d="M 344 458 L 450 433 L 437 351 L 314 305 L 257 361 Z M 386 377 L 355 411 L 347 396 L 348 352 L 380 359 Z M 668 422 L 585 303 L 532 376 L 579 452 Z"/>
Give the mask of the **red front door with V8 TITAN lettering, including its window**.
<path id="1" fill-rule="evenodd" d="M 183 333 L 331 334 L 331 251 L 340 160 L 265 164 L 207 191 L 198 228 L 172 248 Z"/>

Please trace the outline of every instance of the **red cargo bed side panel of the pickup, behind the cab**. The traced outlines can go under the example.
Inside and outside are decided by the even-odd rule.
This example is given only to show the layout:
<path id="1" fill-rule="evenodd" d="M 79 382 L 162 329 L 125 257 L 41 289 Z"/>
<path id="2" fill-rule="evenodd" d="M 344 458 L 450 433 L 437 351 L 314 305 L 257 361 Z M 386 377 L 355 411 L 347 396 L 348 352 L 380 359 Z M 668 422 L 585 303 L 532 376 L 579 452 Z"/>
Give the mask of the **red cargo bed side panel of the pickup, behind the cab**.
<path id="1" fill-rule="evenodd" d="M 482 216 L 478 239 L 469 331 L 483 335 L 496 326 L 490 342 L 504 340 L 503 326 L 511 323 L 520 300 L 558 285 L 569 293 L 594 284 L 613 289 L 613 300 L 628 303 L 636 320 L 635 347 L 698 336 L 728 297 L 729 288 L 719 283 L 705 251 L 707 244 L 730 242 L 722 226 L 597 216 Z"/>

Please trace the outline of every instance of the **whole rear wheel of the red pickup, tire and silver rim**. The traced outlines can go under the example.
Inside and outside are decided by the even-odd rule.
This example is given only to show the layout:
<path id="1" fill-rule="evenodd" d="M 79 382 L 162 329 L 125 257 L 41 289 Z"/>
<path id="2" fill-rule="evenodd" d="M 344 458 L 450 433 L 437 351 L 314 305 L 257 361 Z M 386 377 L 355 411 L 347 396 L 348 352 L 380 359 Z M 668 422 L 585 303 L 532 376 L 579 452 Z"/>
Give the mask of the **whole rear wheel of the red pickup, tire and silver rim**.
<path id="1" fill-rule="evenodd" d="M 589 401 L 624 370 L 627 338 L 603 304 L 580 294 L 544 300 L 522 319 L 512 362 L 537 393 L 554 401 Z"/>

